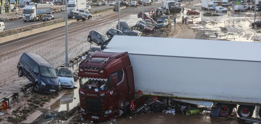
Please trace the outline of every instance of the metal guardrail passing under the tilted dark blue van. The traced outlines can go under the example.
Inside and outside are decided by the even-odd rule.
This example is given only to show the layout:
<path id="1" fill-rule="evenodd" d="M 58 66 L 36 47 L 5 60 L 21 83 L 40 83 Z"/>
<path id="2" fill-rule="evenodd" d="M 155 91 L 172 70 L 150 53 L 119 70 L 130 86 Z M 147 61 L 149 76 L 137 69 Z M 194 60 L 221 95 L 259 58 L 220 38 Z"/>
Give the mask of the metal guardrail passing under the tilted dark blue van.
<path id="1" fill-rule="evenodd" d="M 80 55 L 78 55 L 77 57 L 71 59 L 71 60 L 68 62 L 68 67 L 70 68 L 70 67 L 72 66 L 72 68 L 74 68 L 74 64 L 77 64 L 77 66 L 78 66 L 78 62 L 81 62 L 81 61 L 82 61 L 82 58 L 81 58 L 81 57 L 84 56 L 84 55 L 88 55 L 88 52 L 89 52 L 89 50 L 86 51 L 86 52 L 84 52 L 84 53 L 82 53 L 82 54 L 80 54 Z M 65 64 L 62 64 L 61 66 L 64 66 L 64 65 L 65 65 Z M 61 67 L 61 66 L 59 66 L 59 67 Z M 55 68 L 55 69 L 58 69 L 59 67 L 57 67 L 57 68 Z M 31 83 L 29 83 L 29 84 L 23 86 L 22 88 L 18 89 L 17 91 L 15 91 L 15 92 L 13 92 L 13 93 L 7 95 L 6 97 L 0 99 L 0 105 L 1 105 L 4 101 L 7 101 L 7 107 L 9 108 L 9 107 L 10 107 L 10 102 L 12 102 L 12 101 L 14 100 L 14 99 L 12 99 L 12 98 L 14 98 L 14 97 L 16 97 L 16 101 L 19 102 L 19 95 L 18 95 L 18 93 L 21 92 L 21 91 L 23 91 L 24 94 L 25 94 L 25 97 L 27 97 L 27 89 L 29 89 L 30 87 L 31 87 Z"/>

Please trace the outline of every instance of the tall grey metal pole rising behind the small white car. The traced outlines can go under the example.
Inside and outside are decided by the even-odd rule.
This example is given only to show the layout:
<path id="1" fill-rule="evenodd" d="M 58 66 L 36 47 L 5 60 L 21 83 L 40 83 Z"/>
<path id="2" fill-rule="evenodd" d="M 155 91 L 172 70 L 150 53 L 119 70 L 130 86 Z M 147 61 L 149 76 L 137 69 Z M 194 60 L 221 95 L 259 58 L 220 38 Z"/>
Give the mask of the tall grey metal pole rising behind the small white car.
<path id="1" fill-rule="evenodd" d="M 68 67 L 68 11 L 65 6 L 65 67 Z"/>

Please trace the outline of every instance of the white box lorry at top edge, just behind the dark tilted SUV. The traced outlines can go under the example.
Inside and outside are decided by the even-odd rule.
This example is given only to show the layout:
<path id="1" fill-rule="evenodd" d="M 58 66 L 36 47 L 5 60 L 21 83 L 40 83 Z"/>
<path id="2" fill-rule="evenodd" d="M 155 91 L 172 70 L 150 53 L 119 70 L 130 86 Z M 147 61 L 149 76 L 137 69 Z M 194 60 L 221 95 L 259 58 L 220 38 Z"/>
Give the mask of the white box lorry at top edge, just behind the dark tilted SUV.
<path id="1" fill-rule="evenodd" d="M 85 0 L 69 0 L 67 4 L 67 12 L 76 9 L 83 9 L 86 8 L 86 1 Z"/>

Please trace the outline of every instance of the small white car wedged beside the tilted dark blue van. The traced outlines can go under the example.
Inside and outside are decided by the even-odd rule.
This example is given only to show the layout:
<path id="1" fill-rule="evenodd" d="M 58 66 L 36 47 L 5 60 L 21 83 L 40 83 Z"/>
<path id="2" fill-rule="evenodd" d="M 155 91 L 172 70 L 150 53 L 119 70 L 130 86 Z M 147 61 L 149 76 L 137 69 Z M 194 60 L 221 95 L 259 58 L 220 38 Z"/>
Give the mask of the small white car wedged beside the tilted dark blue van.
<path id="1" fill-rule="evenodd" d="M 69 68 L 60 67 L 57 69 L 57 78 L 61 83 L 61 87 L 73 88 L 74 87 L 74 79 L 72 72 Z"/>

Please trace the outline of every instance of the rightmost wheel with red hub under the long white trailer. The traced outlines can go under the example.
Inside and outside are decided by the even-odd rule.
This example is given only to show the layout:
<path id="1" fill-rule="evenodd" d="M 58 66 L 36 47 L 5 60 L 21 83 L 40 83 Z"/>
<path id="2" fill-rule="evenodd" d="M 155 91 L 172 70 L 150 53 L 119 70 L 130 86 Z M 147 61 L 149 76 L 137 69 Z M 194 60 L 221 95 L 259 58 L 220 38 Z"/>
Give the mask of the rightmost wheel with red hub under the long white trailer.
<path id="1" fill-rule="evenodd" d="M 237 108 L 237 114 L 239 117 L 252 117 L 254 113 L 254 106 L 240 105 Z"/>

